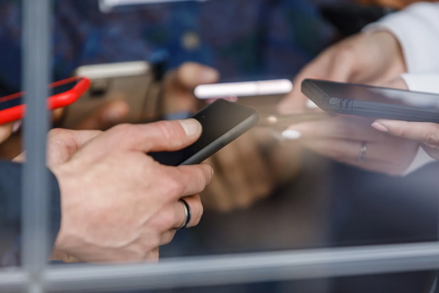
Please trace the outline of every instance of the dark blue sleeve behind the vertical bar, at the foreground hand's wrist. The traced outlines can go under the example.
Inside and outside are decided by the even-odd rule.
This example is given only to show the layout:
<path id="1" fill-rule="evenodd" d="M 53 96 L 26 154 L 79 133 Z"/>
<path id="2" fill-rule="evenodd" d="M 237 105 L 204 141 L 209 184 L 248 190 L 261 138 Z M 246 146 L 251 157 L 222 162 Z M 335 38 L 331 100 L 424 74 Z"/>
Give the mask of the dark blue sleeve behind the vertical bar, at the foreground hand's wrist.
<path id="1" fill-rule="evenodd" d="M 58 180 L 50 172 L 50 243 L 61 223 Z M 0 161 L 0 267 L 19 266 L 22 164 Z"/>

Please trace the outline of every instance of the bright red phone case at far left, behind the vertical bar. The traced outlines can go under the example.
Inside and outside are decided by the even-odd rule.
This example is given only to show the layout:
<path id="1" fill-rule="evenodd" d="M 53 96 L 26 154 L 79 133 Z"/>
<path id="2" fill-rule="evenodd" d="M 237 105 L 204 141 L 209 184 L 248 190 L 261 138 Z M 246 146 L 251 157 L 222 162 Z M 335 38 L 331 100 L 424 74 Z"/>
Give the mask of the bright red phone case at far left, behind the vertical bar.
<path id="1" fill-rule="evenodd" d="M 81 95 L 83 95 L 90 88 L 91 82 L 88 78 L 85 77 L 72 77 L 62 81 L 54 82 L 49 85 L 49 88 L 54 88 L 77 80 L 79 80 L 78 83 L 75 84 L 75 86 L 72 89 L 58 95 L 52 95 L 49 98 L 47 98 L 49 110 L 62 108 L 74 103 L 77 99 L 79 99 Z M 16 99 L 22 96 L 23 94 L 24 92 L 19 92 L 14 95 L 7 95 L 5 97 L 0 98 L 0 103 L 11 99 Z M 5 110 L 0 110 L 0 125 L 22 119 L 25 116 L 25 112 L 26 112 L 25 104 L 22 104 L 20 106 L 14 106 Z"/>

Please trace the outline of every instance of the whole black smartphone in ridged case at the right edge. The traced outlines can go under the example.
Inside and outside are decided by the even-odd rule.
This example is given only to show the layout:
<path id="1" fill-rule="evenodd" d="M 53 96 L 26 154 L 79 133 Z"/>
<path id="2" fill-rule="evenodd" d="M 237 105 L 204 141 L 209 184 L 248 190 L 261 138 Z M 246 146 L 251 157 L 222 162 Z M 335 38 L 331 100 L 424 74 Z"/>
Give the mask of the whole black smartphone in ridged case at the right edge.
<path id="1" fill-rule="evenodd" d="M 337 114 L 439 123 L 439 95 L 394 88 L 306 79 L 302 92 Z"/>

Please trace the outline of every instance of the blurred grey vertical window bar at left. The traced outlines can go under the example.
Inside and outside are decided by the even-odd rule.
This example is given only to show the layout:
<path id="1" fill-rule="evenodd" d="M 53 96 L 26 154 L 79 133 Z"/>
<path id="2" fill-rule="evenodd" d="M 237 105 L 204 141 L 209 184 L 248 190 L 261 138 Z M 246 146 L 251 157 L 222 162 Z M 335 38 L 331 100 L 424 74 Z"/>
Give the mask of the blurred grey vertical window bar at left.
<path id="1" fill-rule="evenodd" d="M 47 96 L 50 76 L 50 0 L 23 0 L 22 64 L 27 113 L 22 176 L 22 264 L 28 292 L 43 293 L 48 259 L 49 192 L 46 170 Z"/>

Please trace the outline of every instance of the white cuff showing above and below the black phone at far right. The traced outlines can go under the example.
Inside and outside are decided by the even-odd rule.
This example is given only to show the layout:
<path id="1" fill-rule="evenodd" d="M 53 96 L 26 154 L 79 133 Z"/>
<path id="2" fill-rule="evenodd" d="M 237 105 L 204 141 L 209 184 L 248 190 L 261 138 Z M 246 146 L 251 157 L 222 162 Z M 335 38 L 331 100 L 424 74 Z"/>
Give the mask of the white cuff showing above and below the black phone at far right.
<path id="1" fill-rule="evenodd" d="M 406 82 L 410 91 L 439 94 L 439 74 L 402 74 L 401 77 Z M 430 157 L 425 150 L 420 147 L 417 151 L 416 157 L 403 173 L 403 176 L 434 161 L 436 160 Z"/>

